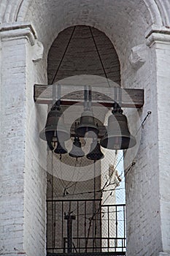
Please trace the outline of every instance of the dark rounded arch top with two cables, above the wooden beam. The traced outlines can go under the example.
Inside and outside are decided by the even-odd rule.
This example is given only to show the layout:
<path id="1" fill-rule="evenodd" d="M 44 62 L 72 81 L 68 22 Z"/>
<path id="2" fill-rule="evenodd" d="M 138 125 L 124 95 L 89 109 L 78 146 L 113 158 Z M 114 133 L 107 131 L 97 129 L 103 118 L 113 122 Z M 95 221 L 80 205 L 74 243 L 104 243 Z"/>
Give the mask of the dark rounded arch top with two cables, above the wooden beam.
<path id="1" fill-rule="evenodd" d="M 74 75 L 98 75 L 120 84 L 120 62 L 106 34 L 80 25 L 58 34 L 47 58 L 48 84 Z"/>

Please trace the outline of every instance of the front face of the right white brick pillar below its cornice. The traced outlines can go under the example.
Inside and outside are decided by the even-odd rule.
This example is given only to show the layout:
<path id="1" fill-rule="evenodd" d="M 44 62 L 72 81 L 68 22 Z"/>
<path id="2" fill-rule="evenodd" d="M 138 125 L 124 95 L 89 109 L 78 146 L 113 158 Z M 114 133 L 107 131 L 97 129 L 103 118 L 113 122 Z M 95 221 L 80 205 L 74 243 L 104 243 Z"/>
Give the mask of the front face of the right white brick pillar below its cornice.
<path id="1" fill-rule="evenodd" d="M 169 35 L 170 42 L 170 35 Z M 158 165 L 159 165 L 159 196 L 161 198 L 161 236 L 163 252 L 170 252 L 170 161 L 169 161 L 169 130 L 170 130 L 170 43 L 155 44 L 157 56 L 157 88 L 158 88 Z"/>

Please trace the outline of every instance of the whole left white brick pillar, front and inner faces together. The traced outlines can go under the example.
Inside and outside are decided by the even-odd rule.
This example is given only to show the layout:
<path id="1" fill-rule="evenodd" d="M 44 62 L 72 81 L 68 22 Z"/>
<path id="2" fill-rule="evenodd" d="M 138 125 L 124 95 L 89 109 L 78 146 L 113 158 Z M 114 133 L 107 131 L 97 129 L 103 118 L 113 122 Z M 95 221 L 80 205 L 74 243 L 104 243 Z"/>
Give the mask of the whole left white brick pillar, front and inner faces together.
<path id="1" fill-rule="evenodd" d="M 0 252 L 40 256 L 45 255 L 46 170 L 41 159 L 46 150 L 37 149 L 41 142 L 31 72 L 36 67 L 28 33 L 21 31 L 1 32 Z"/>

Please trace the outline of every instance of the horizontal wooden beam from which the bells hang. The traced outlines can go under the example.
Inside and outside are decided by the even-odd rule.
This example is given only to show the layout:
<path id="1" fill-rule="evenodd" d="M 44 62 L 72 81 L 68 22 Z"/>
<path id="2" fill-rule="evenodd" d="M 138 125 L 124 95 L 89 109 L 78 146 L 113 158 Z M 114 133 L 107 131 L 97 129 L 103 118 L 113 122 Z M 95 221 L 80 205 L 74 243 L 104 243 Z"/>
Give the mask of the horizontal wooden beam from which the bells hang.
<path id="1" fill-rule="evenodd" d="M 92 104 L 99 103 L 111 108 L 116 99 L 116 94 L 116 87 L 92 87 Z M 142 108 L 144 105 L 143 89 L 120 89 L 120 94 L 123 108 Z M 34 85 L 34 101 L 36 104 L 53 104 L 53 97 L 53 86 Z M 57 95 L 55 95 L 55 98 L 58 99 Z M 61 86 L 61 105 L 70 106 L 79 102 L 84 102 L 83 86 Z"/>

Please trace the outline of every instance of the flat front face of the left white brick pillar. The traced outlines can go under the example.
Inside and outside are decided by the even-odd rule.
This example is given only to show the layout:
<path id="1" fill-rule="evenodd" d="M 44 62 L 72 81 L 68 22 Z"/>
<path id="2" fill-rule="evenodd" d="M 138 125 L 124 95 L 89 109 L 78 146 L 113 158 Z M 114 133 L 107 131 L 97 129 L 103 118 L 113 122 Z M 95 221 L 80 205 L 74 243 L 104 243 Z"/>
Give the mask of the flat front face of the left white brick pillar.
<path id="1" fill-rule="evenodd" d="M 1 42 L 0 249 L 4 255 L 23 252 L 25 56 L 25 39 Z"/>

